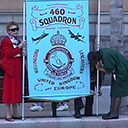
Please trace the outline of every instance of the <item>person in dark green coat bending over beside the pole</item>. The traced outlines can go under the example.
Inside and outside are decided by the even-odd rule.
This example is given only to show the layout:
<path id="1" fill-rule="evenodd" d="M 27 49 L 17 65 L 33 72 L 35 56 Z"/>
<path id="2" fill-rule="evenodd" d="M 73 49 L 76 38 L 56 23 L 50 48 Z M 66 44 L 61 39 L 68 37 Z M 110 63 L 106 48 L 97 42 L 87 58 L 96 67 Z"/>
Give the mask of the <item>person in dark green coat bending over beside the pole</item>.
<path id="1" fill-rule="evenodd" d="M 111 75 L 110 112 L 102 118 L 118 119 L 121 98 L 128 96 L 128 60 L 121 53 L 109 48 L 90 52 L 88 59 L 98 70 Z"/>

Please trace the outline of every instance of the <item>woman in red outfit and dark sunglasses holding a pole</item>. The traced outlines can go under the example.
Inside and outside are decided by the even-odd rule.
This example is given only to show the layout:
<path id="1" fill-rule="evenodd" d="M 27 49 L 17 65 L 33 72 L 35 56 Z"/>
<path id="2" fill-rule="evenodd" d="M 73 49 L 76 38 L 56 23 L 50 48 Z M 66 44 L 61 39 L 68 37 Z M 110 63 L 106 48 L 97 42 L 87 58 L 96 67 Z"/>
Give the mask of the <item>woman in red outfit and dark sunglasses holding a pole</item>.
<path id="1" fill-rule="evenodd" d="M 22 119 L 17 111 L 17 103 L 22 101 L 22 47 L 26 42 L 18 39 L 18 24 L 10 22 L 6 26 L 8 36 L 1 42 L 1 63 L 5 71 L 3 81 L 3 103 L 6 105 L 7 121 Z M 12 114 L 10 105 L 12 104 Z"/>

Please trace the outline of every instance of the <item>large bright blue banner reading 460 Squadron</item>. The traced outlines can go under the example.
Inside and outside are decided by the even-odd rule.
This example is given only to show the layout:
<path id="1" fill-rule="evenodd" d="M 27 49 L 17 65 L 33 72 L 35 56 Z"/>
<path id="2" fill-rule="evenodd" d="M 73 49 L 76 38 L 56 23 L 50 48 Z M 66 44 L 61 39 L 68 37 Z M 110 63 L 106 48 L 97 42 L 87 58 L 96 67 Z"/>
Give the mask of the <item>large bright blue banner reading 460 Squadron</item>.
<path id="1" fill-rule="evenodd" d="M 27 1 L 29 97 L 90 95 L 88 1 Z"/>

